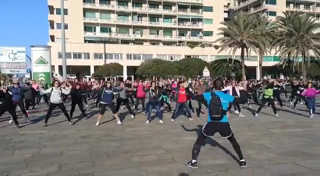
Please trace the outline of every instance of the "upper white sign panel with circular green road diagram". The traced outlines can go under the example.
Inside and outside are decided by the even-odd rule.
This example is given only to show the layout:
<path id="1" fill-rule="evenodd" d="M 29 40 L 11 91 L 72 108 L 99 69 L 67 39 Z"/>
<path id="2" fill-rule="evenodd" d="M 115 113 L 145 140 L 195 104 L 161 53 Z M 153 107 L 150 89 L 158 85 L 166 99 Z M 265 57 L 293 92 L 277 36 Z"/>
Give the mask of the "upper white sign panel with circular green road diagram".
<path id="1" fill-rule="evenodd" d="M 25 47 L 0 47 L 0 62 L 25 62 Z"/>

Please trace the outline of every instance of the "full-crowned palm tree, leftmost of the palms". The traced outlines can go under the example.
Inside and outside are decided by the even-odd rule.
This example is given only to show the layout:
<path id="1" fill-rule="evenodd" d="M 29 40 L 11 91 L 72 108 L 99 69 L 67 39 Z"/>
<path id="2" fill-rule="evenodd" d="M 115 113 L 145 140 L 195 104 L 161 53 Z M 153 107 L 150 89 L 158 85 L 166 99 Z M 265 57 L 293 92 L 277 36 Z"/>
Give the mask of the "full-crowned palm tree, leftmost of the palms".
<path id="1" fill-rule="evenodd" d="M 218 28 L 220 31 L 218 35 L 222 37 L 215 40 L 220 44 L 218 52 L 229 50 L 233 54 L 232 58 L 237 49 L 240 49 L 242 80 L 245 79 L 244 55 L 249 55 L 250 50 L 258 53 L 257 49 L 261 49 L 263 53 L 267 52 L 265 42 L 259 38 L 265 26 L 256 25 L 255 22 L 254 16 L 246 12 L 239 12 L 230 20 L 221 22 L 223 27 Z"/>

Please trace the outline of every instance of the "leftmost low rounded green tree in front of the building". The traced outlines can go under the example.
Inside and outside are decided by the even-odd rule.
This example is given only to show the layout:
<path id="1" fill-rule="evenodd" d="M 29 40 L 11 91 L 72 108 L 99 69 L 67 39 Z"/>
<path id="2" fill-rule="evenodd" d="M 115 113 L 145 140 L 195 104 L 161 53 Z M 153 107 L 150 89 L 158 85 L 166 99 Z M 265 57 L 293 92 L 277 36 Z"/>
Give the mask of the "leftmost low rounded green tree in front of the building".
<path id="1" fill-rule="evenodd" d="M 119 76 L 123 74 L 123 66 L 120 63 L 112 62 L 99 66 L 92 74 L 93 77 Z"/>

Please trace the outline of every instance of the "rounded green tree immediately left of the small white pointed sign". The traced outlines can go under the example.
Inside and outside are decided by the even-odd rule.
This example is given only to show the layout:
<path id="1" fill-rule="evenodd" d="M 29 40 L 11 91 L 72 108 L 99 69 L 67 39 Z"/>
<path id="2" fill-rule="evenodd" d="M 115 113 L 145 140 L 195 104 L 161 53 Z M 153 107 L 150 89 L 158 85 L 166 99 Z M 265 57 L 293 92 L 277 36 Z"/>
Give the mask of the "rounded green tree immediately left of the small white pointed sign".
<path id="1" fill-rule="evenodd" d="M 193 77 L 202 75 L 203 68 L 208 66 L 208 63 L 200 58 L 182 58 L 175 63 L 176 70 L 179 74 L 185 77 Z"/>

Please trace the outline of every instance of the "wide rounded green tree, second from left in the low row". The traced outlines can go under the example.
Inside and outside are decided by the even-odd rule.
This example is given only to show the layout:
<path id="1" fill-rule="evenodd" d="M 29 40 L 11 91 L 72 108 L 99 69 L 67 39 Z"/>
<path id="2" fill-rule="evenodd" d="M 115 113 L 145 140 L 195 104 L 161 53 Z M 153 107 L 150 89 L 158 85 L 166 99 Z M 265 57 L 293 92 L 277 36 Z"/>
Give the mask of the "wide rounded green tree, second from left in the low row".
<path id="1" fill-rule="evenodd" d="M 155 58 L 142 62 L 135 73 L 139 77 L 167 78 L 169 75 L 175 75 L 176 71 L 171 61 Z"/>

